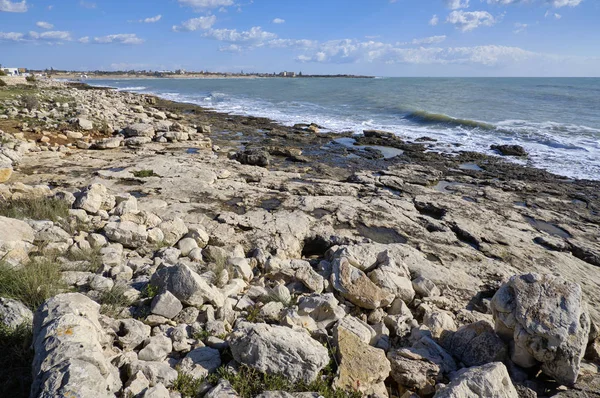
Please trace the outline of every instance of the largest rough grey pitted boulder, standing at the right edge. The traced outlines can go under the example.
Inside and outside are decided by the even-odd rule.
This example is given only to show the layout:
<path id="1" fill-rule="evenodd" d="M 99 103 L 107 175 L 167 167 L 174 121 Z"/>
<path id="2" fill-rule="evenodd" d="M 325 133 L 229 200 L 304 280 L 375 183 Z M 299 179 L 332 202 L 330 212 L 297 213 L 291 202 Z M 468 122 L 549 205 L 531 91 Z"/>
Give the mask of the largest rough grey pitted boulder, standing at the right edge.
<path id="1" fill-rule="evenodd" d="M 492 299 L 496 332 L 510 342 L 511 359 L 559 383 L 577 380 L 590 332 L 581 286 L 553 275 L 513 276 Z"/>

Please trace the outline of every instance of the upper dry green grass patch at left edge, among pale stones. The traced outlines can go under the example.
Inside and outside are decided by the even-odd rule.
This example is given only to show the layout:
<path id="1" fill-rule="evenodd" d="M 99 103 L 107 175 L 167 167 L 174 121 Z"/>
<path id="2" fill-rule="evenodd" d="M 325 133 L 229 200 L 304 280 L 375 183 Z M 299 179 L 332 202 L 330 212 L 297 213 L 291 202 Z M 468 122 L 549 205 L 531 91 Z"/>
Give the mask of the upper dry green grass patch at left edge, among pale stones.
<path id="1" fill-rule="evenodd" d="M 67 202 L 46 197 L 17 199 L 0 203 L 0 216 L 33 220 L 60 221 L 69 215 Z"/>

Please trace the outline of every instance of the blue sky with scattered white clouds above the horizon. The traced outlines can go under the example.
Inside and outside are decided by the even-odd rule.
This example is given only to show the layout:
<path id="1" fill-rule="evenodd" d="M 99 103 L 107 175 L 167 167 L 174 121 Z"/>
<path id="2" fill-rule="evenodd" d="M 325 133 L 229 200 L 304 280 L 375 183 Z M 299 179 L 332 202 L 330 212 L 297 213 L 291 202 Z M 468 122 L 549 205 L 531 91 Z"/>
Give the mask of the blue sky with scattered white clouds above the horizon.
<path id="1" fill-rule="evenodd" d="M 0 63 L 600 76 L 598 0 L 0 0 Z"/>

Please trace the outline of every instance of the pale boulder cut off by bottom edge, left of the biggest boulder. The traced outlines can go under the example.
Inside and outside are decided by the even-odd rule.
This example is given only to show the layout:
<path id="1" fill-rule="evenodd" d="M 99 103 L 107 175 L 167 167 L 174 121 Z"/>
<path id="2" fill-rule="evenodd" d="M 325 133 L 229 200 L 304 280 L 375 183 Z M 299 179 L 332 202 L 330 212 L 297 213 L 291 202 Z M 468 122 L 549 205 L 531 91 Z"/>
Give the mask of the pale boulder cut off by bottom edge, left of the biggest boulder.
<path id="1" fill-rule="evenodd" d="M 434 398 L 519 398 L 501 362 L 463 370 Z"/>

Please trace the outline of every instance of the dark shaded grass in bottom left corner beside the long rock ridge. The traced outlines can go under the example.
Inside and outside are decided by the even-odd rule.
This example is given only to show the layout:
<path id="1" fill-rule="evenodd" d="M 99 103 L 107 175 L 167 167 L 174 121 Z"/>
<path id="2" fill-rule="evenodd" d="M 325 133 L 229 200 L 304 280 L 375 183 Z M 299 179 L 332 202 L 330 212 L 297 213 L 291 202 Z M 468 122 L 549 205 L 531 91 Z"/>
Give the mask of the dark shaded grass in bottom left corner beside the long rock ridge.
<path id="1" fill-rule="evenodd" d="M 31 325 L 15 329 L 0 324 L 0 396 L 28 398 L 33 350 Z"/>

